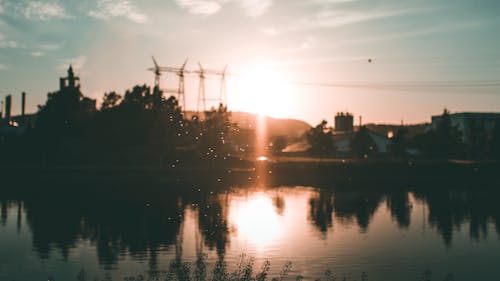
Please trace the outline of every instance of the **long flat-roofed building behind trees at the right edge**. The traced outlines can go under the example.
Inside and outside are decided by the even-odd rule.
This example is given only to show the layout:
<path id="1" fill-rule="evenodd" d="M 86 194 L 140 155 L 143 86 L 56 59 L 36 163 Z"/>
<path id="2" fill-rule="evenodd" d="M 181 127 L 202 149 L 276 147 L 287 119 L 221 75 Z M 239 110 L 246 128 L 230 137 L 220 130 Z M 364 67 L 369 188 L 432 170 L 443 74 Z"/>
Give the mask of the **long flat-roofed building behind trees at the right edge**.
<path id="1" fill-rule="evenodd" d="M 436 129 L 441 121 L 442 115 L 432 116 L 432 129 Z M 500 113 L 492 112 L 459 112 L 450 114 L 452 126 L 456 126 L 462 133 L 462 141 L 466 144 L 473 142 L 478 130 L 483 131 L 487 136 L 493 134 L 495 125 L 500 121 Z"/>

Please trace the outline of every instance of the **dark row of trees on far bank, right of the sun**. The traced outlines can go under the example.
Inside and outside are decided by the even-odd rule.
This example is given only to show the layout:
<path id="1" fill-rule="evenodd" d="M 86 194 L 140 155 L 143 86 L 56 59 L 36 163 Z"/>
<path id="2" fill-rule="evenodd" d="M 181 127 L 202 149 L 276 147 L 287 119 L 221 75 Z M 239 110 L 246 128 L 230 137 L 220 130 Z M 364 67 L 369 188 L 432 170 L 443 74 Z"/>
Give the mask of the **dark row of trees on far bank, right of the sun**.
<path id="1" fill-rule="evenodd" d="M 389 139 L 388 155 L 394 158 L 409 156 L 430 159 L 500 159 L 500 120 L 495 122 L 492 131 L 487 131 L 484 124 L 472 122 L 469 126 L 467 141 L 458 126 L 450 119 L 450 112 L 444 110 L 435 128 L 429 127 L 423 133 L 410 136 L 406 126 L 401 126 Z M 318 157 L 339 155 L 333 129 L 323 120 L 311 128 L 307 134 L 309 152 Z M 369 158 L 380 156 L 377 144 L 366 126 L 361 126 L 349 138 L 350 156 Z"/>

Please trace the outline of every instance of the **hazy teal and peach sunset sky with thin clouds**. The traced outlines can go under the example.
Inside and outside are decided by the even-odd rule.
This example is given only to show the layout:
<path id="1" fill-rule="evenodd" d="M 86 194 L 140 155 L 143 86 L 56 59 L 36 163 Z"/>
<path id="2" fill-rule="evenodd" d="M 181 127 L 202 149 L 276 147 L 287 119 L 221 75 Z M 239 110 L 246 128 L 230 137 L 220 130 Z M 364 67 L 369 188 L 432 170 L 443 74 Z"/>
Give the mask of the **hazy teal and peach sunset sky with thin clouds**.
<path id="1" fill-rule="evenodd" d="M 227 65 L 230 110 L 311 125 L 339 111 L 392 124 L 499 111 L 498 15 L 498 0 L 0 0 L 0 99 L 12 94 L 16 114 L 25 91 L 36 112 L 72 64 L 99 104 L 152 85 L 154 56 Z M 177 83 L 162 75 L 162 88 Z M 199 79 L 185 83 L 196 110 Z M 219 87 L 207 77 L 208 98 Z"/>

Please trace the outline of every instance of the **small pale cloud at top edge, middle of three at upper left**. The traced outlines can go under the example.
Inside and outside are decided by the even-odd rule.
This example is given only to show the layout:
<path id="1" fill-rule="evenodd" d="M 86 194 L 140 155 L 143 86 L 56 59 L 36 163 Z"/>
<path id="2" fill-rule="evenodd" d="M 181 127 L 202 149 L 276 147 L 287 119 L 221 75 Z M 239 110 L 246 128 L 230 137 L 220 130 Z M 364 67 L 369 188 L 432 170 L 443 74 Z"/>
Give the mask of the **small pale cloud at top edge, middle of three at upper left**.
<path id="1" fill-rule="evenodd" d="M 148 23 L 149 18 L 128 0 L 97 0 L 97 9 L 88 13 L 97 19 L 126 18 L 135 23 Z"/>

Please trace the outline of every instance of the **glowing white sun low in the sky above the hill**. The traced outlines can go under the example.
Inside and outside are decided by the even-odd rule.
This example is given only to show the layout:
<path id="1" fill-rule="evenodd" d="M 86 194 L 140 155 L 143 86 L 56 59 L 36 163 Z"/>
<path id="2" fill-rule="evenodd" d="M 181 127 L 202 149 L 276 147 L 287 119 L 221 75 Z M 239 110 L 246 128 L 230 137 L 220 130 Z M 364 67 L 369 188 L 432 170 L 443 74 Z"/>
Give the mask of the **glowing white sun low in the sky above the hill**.
<path id="1" fill-rule="evenodd" d="M 271 64 L 256 64 L 235 77 L 231 107 L 272 117 L 293 114 L 296 95 L 285 73 Z"/>

